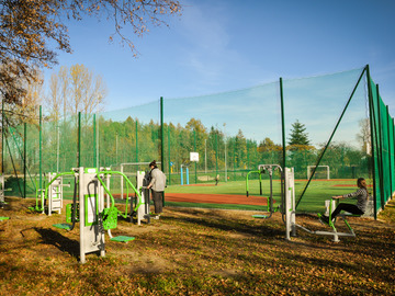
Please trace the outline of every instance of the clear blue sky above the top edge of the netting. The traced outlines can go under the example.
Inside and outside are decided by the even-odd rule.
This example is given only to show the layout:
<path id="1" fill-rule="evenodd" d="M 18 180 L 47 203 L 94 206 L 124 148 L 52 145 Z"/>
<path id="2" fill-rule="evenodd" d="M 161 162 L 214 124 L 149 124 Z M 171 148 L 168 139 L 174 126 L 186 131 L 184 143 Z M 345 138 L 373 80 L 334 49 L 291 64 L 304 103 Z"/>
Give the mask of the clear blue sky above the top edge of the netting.
<path id="1" fill-rule="evenodd" d="M 238 90 L 370 65 L 395 115 L 394 0 L 180 0 L 169 26 L 132 37 L 138 56 L 116 39 L 113 24 L 69 21 L 72 54 L 105 81 L 105 111 L 159 100 Z"/>

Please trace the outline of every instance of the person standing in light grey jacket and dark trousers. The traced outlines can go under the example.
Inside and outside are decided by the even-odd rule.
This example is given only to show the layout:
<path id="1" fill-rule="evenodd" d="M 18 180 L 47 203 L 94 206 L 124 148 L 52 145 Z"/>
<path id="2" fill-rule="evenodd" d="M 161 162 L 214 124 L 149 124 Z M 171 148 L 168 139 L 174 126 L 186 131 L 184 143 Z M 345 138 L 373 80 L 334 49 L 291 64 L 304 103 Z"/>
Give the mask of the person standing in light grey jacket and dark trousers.
<path id="1" fill-rule="evenodd" d="M 151 190 L 156 218 L 163 212 L 163 192 L 166 187 L 166 174 L 158 169 L 156 160 L 149 163 L 150 182 L 147 189 Z"/>

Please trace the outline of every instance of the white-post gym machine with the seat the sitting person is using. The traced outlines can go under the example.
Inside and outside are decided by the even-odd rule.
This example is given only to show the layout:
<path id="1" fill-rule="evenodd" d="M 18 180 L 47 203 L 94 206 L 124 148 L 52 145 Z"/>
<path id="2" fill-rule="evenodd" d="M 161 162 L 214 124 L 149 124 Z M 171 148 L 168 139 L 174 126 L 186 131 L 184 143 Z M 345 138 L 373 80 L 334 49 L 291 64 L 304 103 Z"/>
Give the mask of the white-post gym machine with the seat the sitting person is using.
<path id="1" fill-rule="evenodd" d="M 360 215 L 340 214 L 337 217 L 341 217 L 345 221 L 349 232 L 339 232 L 335 227 L 335 221 L 331 219 L 331 213 L 334 212 L 335 202 L 329 202 L 329 227 L 331 231 L 311 230 L 296 223 L 296 207 L 295 207 L 295 180 L 293 168 L 285 168 L 285 239 L 291 240 L 291 236 L 296 236 L 296 227 L 312 235 L 332 236 L 334 241 L 338 242 L 339 237 L 356 237 L 356 232 L 347 221 L 347 217 L 359 217 Z"/>

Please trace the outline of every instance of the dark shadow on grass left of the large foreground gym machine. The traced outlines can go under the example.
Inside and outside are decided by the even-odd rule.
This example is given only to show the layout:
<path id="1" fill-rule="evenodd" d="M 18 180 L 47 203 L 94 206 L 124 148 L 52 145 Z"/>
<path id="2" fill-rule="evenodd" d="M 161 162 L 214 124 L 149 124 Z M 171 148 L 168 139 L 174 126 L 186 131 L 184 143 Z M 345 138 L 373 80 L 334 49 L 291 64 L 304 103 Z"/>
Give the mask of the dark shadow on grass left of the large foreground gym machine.
<path id="1" fill-rule="evenodd" d="M 49 228 L 34 228 L 37 231 L 43 241 L 41 243 L 50 244 L 58 248 L 61 252 L 67 252 L 70 255 L 75 257 L 77 260 L 79 259 L 79 242 L 72 239 L 69 239 L 58 231 L 55 231 Z"/>

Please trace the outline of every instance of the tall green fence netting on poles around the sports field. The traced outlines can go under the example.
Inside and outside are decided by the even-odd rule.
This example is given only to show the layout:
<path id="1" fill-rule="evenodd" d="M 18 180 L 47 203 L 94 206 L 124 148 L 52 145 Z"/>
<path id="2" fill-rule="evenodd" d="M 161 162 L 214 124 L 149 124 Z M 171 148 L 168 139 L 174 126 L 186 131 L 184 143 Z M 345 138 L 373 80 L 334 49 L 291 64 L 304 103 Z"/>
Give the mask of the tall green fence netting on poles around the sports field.
<path id="1" fill-rule="evenodd" d="M 3 124 L 9 194 L 33 196 L 45 173 L 78 166 L 122 170 L 133 179 L 154 159 L 169 185 L 185 182 L 185 170 L 190 183 L 242 183 L 259 164 L 292 167 L 301 212 L 320 210 L 329 192 L 342 193 L 360 177 L 374 196 L 375 214 L 394 192 L 394 119 L 369 66 L 59 121 L 43 114 L 31 124 Z M 297 125 L 307 143 L 291 143 Z M 278 186 L 279 181 L 275 173 Z"/>

